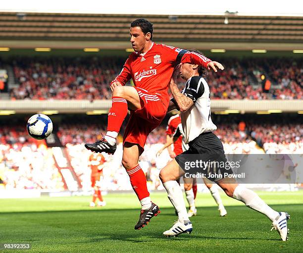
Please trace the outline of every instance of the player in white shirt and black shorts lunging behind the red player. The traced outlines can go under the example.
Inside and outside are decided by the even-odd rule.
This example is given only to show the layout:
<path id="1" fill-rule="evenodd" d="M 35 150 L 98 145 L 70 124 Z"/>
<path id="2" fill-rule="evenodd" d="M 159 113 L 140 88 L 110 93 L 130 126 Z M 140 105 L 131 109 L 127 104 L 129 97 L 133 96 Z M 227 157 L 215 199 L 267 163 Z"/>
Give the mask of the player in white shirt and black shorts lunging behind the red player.
<path id="1" fill-rule="evenodd" d="M 196 53 L 200 53 L 196 51 Z M 180 73 L 184 80 L 187 80 L 182 93 L 176 85 L 176 79 Z M 217 127 L 210 117 L 210 93 L 205 79 L 201 76 L 204 73 L 202 66 L 193 64 L 179 64 L 173 73 L 170 89 L 173 95 L 168 110 L 178 108 L 181 111 L 182 128 L 185 134 L 185 142 L 189 150 L 177 155 L 161 171 L 159 177 L 167 191 L 168 198 L 178 212 L 178 221 L 167 231 L 164 236 L 176 236 L 182 233 L 193 231 L 192 223 L 189 220 L 185 202 L 180 185 L 177 179 L 197 173 L 197 163 L 194 159 L 201 161 L 215 161 L 215 164 L 226 162 L 224 150 L 219 138 L 212 133 Z M 196 166 L 196 167 L 195 167 Z M 232 171 L 226 167 L 207 166 L 206 177 L 217 183 L 223 191 L 231 198 L 244 202 L 248 207 L 263 213 L 272 221 L 272 229 L 276 229 L 282 241 L 288 240 L 287 212 L 277 212 L 262 201 L 252 190 L 238 185 L 235 179 L 211 178 L 216 172 L 221 175 L 230 174 Z"/>

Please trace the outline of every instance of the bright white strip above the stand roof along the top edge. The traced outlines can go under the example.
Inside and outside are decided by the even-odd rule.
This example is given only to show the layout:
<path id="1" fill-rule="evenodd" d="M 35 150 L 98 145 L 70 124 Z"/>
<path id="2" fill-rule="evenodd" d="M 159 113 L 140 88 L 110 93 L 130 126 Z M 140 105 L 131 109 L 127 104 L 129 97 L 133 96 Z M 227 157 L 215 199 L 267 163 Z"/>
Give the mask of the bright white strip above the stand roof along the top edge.
<path id="1" fill-rule="evenodd" d="M 224 15 L 226 10 L 244 16 L 303 16 L 303 3 L 288 0 L 283 4 L 264 0 L 152 0 L 149 2 L 115 0 L 9 0 L 0 5 L 1 11 L 40 13 L 142 14 L 142 15 Z"/>

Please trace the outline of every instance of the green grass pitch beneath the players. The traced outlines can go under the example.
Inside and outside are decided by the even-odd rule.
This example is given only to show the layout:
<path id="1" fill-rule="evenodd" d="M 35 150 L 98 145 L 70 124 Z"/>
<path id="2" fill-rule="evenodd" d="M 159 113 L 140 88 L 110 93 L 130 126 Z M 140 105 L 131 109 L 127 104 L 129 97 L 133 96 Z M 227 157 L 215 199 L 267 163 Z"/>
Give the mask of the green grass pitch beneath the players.
<path id="1" fill-rule="evenodd" d="M 303 191 L 257 192 L 274 209 L 291 215 L 289 241 L 282 242 L 264 215 L 221 194 L 227 216 L 220 217 L 210 194 L 198 194 L 194 231 L 166 238 L 176 216 L 165 193 L 152 193 L 161 213 L 134 230 L 139 217 L 135 194 L 108 194 L 105 207 L 90 197 L 0 199 L 0 243 L 31 243 L 26 252 L 303 252 Z M 2 252 L 13 252 L 3 250 Z M 23 252 L 23 251 L 16 251 Z"/>

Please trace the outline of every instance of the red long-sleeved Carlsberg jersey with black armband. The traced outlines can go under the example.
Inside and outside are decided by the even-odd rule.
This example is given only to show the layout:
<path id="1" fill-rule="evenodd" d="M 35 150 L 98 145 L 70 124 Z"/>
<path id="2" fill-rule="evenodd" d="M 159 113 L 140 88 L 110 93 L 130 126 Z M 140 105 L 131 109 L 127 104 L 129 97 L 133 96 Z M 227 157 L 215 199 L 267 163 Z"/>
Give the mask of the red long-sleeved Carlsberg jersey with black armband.
<path id="1" fill-rule="evenodd" d="M 146 53 L 131 53 L 120 74 L 110 85 L 115 81 L 125 85 L 132 78 L 136 87 L 157 94 L 159 99 L 168 106 L 167 89 L 175 63 L 192 63 L 207 67 L 210 61 L 196 52 L 152 43 L 151 49 Z"/>

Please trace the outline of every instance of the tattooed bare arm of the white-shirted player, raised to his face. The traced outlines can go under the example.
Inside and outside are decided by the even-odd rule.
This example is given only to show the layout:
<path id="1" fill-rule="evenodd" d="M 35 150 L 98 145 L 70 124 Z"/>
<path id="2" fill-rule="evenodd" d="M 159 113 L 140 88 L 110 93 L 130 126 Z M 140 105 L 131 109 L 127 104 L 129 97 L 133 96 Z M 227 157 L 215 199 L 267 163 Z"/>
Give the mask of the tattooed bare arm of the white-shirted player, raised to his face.
<path id="1" fill-rule="evenodd" d="M 178 77 L 178 74 L 179 74 L 179 71 L 180 71 L 180 65 L 178 65 L 174 72 L 173 72 L 173 75 L 170 79 L 170 90 L 171 90 L 171 93 L 173 95 L 173 98 L 175 99 L 175 101 L 177 102 L 179 108 L 180 108 L 180 111 L 181 112 L 184 112 L 184 111 L 187 111 L 189 108 L 191 108 L 194 104 L 194 101 L 188 97 L 186 97 L 184 94 L 182 94 L 180 91 L 179 91 L 179 88 L 176 84 L 176 80 L 177 80 L 177 77 Z"/>

